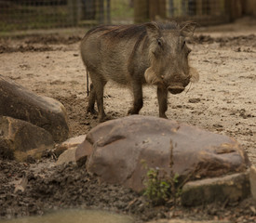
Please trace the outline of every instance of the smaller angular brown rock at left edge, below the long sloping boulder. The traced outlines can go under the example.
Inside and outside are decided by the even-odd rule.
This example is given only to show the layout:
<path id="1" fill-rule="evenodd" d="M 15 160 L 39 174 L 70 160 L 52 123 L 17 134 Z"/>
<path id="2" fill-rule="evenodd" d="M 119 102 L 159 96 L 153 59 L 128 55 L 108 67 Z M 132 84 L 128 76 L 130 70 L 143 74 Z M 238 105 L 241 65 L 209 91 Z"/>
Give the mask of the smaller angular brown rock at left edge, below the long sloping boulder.
<path id="1" fill-rule="evenodd" d="M 43 128 L 11 117 L 0 116 L 0 156 L 25 161 L 40 158 L 41 153 L 52 149 L 52 136 Z"/>

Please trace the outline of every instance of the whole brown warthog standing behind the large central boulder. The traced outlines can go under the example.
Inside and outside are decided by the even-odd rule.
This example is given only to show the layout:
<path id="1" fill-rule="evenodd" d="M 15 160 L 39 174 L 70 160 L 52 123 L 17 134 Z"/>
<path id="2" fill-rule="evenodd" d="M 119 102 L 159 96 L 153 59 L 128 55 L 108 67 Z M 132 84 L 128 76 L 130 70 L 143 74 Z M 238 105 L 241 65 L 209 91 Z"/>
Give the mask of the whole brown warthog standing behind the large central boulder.
<path id="1" fill-rule="evenodd" d="M 103 88 L 113 80 L 132 89 L 134 100 L 128 114 L 138 114 L 142 108 L 142 85 L 156 85 L 159 116 L 167 118 L 168 92 L 179 94 L 196 79 L 197 72 L 188 64 L 191 49 L 185 42 L 195 26 L 195 22 L 149 22 L 89 30 L 81 43 L 81 56 L 92 82 L 88 112 L 96 112 L 96 100 L 100 121 L 106 119 Z"/>

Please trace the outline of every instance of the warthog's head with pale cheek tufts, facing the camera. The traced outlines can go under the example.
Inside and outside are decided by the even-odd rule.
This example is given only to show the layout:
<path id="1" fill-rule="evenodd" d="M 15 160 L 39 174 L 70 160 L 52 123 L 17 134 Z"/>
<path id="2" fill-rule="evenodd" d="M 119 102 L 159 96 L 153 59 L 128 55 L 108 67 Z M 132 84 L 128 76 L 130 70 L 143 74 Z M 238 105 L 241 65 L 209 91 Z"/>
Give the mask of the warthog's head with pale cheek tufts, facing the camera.
<path id="1" fill-rule="evenodd" d="M 165 87 L 171 94 L 179 94 L 190 82 L 198 79 L 196 70 L 189 66 L 191 49 L 185 38 L 192 36 L 195 22 L 147 24 L 150 67 L 145 71 L 146 82 Z"/>

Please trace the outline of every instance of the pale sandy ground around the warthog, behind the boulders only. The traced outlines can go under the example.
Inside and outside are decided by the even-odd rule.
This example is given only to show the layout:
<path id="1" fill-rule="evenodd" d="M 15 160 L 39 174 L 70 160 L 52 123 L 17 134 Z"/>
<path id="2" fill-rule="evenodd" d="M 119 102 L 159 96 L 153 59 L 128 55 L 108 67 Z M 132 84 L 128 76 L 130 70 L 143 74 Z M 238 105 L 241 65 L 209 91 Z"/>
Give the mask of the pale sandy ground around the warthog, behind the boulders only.
<path id="1" fill-rule="evenodd" d="M 98 125 L 97 116 L 86 112 L 87 79 L 79 55 L 83 35 L 40 33 L 0 39 L 0 74 L 60 100 L 68 113 L 70 137 Z M 182 94 L 169 95 L 168 118 L 236 138 L 256 164 L 256 21 L 201 28 L 189 46 L 200 80 Z M 145 86 L 143 96 L 141 114 L 157 116 L 155 87 Z M 112 118 L 126 116 L 131 102 L 128 89 L 106 85 L 104 106 Z"/>

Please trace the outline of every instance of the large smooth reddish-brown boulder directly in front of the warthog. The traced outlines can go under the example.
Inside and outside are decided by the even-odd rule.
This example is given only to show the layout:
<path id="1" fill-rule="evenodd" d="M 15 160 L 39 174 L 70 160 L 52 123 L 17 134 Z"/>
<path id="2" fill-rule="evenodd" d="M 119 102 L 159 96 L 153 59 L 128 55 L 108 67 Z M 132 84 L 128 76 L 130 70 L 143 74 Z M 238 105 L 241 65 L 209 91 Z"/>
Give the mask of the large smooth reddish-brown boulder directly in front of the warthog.
<path id="1" fill-rule="evenodd" d="M 102 181 L 144 188 L 148 167 L 169 176 L 190 179 L 243 172 L 246 152 L 233 138 L 192 125 L 155 117 L 132 115 L 91 129 L 76 150 L 76 161 L 87 160 L 88 172 Z"/>

